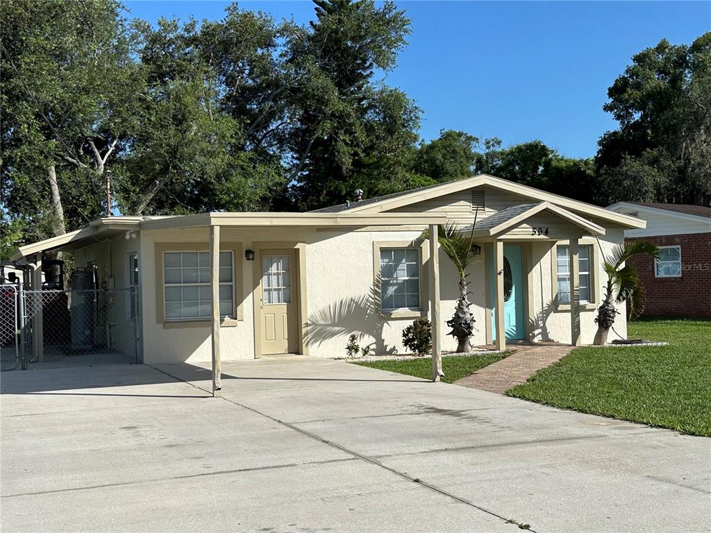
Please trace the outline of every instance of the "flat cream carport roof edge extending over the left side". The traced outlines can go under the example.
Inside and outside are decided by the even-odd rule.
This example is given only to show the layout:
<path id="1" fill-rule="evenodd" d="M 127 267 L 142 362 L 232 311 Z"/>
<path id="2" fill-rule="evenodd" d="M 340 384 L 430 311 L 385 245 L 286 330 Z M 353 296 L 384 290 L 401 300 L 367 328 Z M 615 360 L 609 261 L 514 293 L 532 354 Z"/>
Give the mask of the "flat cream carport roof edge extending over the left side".
<path id="1" fill-rule="evenodd" d="M 323 212 L 205 212 L 199 215 L 165 217 L 105 217 L 81 230 L 50 237 L 19 247 L 10 259 L 19 261 L 41 252 L 76 249 L 92 242 L 111 239 L 130 230 L 167 230 L 188 227 L 366 227 L 426 226 L 444 224 L 443 213 L 323 213 Z"/>

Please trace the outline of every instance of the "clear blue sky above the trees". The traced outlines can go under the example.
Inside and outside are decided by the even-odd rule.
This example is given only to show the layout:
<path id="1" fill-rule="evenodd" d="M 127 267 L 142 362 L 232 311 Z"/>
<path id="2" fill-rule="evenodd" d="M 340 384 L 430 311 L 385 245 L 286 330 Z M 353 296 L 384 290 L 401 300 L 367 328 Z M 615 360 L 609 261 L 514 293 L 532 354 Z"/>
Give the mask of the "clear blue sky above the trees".
<path id="1" fill-rule="evenodd" d="M 224 1 L 127 1 L 131 16 L 222 18 Z M 421 136 L 440 129 L 540 139 L 571 157 L 593 156 L 616 123 L 607 87 L 630 58 L 662 38 L 691 43 L 711 31 L 711 2 L 398 1 L 412 35 L 388 85 L 422 108 Z M 242 9 L 304 23 L 309 1 L 241 1 Z"/>

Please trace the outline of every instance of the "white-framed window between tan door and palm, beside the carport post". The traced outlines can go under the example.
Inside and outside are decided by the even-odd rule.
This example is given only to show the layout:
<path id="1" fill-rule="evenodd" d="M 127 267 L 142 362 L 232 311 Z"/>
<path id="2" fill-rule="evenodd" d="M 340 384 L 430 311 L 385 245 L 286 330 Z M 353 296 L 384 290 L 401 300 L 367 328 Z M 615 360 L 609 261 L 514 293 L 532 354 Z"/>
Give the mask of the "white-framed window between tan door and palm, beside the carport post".
<path id="1" fill-rule="evenodd" d="M 380 249 L 380 305 L 383 311 L 419 311 L 419 249 Z"/>

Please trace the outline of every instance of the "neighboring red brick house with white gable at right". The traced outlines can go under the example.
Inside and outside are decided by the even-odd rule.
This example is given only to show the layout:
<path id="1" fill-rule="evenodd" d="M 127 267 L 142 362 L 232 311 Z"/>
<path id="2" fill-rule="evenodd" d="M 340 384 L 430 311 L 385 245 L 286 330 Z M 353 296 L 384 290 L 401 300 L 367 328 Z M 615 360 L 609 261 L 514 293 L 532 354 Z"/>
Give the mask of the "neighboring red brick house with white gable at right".
<path id="1" fill-rule="evenodd" d="M 625 239 L 645 239 L 661 250 L 659 259 L 630 261 L 646 291 L 643 314 L 711 318 L 711 208 L 618 202 L 608 209 L 646 220 L 646 229 L 625 230 Z"/>

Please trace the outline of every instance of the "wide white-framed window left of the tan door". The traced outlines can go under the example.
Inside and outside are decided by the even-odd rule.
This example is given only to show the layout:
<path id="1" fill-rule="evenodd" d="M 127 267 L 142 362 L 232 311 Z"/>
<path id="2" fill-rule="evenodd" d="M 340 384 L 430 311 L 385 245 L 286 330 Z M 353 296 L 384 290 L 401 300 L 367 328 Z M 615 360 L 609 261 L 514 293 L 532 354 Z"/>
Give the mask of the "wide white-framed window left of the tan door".
<path id="1" fill-rule="evenodd" d="M 235 316 L 232 252 L 220 252 L 220 316 Z M 164 296 L 166 320 L 210 318 L 210 254 L 208 252 L 164 252 Z"/>

